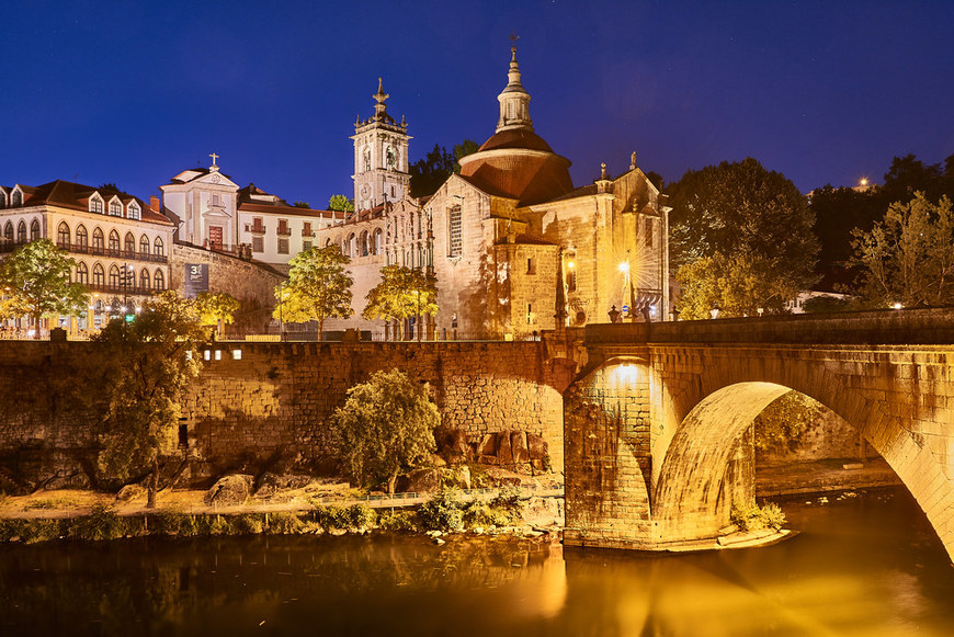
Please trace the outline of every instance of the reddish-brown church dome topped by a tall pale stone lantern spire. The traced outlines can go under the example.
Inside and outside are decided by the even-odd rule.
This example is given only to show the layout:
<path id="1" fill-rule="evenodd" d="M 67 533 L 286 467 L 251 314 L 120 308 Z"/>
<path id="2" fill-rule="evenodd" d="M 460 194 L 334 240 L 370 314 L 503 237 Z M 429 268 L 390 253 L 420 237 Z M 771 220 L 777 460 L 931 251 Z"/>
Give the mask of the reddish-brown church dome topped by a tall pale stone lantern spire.
<path id="1" fill-rule="evenodd" d="M 477 152 L 461 159 L 461 177 L 488 193 L 529 205 L 564 195 L 573 190 L 573 183 L 570 161 L 533 132 L 530 94 L 520 83 L 516 47 L 511 52 L 509 81 L 497 98 L 497 130 Z"/>

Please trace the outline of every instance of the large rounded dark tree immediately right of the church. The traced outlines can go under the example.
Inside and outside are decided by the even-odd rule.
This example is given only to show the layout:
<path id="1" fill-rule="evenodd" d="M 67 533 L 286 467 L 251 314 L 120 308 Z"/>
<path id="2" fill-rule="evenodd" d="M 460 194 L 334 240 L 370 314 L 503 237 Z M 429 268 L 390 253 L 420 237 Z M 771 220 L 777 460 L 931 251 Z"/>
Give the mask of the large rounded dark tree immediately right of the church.
<path id="1" fill-rule="evenodd" d="M 688 283 L 681 316 L 702 318 L 718 303 L 725 316 L 762 307 L 782 311 L 785 298 L 816 281 L 818 240 L 805 198 L 783 174 L 748 158 L 689 171 L 670 186 L 672 263 Z M 696 261 L 706 259 L 700 264 Z M 693 283 L 695 276 L 707 281 Z M 693 295 L 705 292 L 705 298 Z M 690 308 L 690 311 L 685 311 Z M 712 305 L 708 306 L 708 309 Z"/>

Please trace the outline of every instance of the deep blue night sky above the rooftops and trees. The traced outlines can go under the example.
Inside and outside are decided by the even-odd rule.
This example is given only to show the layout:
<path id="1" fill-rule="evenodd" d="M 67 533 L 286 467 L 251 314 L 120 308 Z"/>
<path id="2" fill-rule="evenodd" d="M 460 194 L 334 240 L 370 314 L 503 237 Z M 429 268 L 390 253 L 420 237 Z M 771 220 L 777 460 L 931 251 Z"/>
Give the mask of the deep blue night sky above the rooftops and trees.
<path id="1" fill-rule="evenodd" d="M 141 4 L 141 5 L 140 5 Z M 44 2 L 4 5 L 0 183 L 148 201 L 209 152 L 240 185 L 352 194 L 378 76 L 411 160 L 482 143 L 511 32 L 576 185 L 632 150 L 669 181 L 747 156 L 803 191 L 954 153 L 954 2 Z"/>

